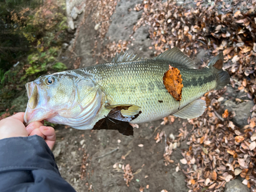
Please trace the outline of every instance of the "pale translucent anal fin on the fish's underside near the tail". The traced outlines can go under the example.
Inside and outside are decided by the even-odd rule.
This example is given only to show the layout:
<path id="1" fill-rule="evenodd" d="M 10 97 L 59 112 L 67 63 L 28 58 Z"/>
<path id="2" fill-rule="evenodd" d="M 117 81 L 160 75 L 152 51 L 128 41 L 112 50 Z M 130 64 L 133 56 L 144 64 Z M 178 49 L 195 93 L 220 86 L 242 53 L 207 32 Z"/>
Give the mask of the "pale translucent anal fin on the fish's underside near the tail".
<path id="1" fill-rule="evenodd" d="M 186 105 L 184 108 L 182 108 L 180 111 L 173 114 L 176 117 L 180 117 L 183 119 L 194 119 L 196 117 L 201 116 L 204 113 L 204 110 L 206 109 L 206 103 L 202 99 L 197 99 L 188 105 Z"/>

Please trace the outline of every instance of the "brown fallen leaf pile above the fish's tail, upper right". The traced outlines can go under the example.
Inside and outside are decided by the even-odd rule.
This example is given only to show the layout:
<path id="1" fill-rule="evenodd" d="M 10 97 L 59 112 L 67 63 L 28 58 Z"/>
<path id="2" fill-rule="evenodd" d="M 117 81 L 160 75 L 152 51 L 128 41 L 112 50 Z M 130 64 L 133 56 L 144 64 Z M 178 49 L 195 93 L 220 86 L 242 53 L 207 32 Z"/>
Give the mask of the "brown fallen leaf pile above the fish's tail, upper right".
<path id="1" fill-rule="evenodd" d="M 190 57 L 199 49 L 207 50 L 209 55 L 223 51 L 224 62 L 227 62 L 224 69 L 232 76 L 232 87 L 244 90 L 253 99 L 256 93 L 256 1 L 233 1 L 233 6 L 224 1 L 195 2 L 196 5 L 185 8 L 175 1 L 144 1 L 134 8 L 143 10 L 134 31 L 142 25 L 150 26 L 156 55 L 174 46 Z M 245 7 L 250 5 L 248 11 L 235 11 L 239 3 Z"/>

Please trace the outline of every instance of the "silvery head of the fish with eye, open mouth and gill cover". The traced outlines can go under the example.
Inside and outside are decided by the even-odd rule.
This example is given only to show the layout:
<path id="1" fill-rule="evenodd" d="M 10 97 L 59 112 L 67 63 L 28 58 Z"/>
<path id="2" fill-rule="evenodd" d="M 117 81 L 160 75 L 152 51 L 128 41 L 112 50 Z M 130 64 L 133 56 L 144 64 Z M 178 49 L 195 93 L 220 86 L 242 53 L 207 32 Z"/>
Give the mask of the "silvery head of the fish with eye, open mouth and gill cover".
<path id="1" fill-rule="evenodd" d="M 24 121 L 47 120 L 71 126 L 84 123 L 100 108 L 102 94 L 98 88 L 90 78 L 77 74 L 42 75 L 26 84 L 29 100 Z"/>

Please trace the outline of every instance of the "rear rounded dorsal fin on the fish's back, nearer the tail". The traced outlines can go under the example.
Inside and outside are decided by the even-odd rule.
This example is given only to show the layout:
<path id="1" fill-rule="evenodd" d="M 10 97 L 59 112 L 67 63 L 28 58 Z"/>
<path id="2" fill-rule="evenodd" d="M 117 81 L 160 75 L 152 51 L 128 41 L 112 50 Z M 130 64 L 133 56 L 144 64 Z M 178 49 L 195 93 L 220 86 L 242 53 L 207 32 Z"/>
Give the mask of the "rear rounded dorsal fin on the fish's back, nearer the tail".
<path id="1" fill-rule="evenodd" d="M 155 59 L 172 61 L 176 64 L 183 65 L 190 69 L 196 67 L 196 63 L 191 58 L 182 53 L 181 50 L 179 50 L 177 47 L 174 47 L 173 49 L 168 49 L 167 51 L 155 57 Z"/>

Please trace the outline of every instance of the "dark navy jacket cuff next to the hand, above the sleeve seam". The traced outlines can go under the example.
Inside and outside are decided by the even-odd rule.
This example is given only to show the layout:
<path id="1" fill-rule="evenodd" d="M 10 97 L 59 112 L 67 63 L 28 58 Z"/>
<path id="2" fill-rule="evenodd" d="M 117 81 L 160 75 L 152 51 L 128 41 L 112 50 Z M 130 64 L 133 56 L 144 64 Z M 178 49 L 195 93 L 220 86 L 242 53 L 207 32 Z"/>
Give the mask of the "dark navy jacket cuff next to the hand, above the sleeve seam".
<path id="1" fill-rule="evenodd" d="M 59 174 L 54 156 L 44 139 L 34 135 L 0 140 L 0 173 L 35 169 L 50 169 Z"/>

